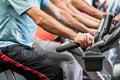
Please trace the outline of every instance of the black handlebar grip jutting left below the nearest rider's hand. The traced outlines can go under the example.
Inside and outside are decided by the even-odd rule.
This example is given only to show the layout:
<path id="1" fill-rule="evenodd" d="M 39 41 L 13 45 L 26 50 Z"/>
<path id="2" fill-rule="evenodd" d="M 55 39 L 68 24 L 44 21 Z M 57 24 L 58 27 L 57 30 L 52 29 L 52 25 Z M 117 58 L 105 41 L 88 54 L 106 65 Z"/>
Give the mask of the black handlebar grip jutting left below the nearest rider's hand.
<path id="1" fill-rule="evenodd" d="M 79 46 L 80 46 L 79 43 L 71 42 L 70 44 L 57 47 L 57 48 L 56 48 L 56 51 L 57 51 L 57 52 L 62 52 L 62 51 L 66 51 L 66 50 L 70 50 L 70 49 L 77 48 L 77 47 L 79 47 Z"/>

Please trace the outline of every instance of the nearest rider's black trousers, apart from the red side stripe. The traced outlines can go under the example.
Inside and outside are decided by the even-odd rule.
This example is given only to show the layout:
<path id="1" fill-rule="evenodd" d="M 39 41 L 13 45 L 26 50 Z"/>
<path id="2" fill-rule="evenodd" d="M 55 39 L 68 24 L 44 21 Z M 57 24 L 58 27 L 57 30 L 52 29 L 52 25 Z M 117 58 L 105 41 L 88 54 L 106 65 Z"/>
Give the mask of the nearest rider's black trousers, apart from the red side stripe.
<path id="1" fill-rule="evenodd" d="M 10 59 L 27 66 L 29 69 L 42 73 L 41 76 L 44 77 L 39 77 L 39 74 L 33 75 L 29 70 L 21 70 L 13 64 L 6 63 L 2 59 L 0 60 L 0 67 L 3 69 L 11 69 L 23 75 L 27 80 L 46 80 L 47 77 L 49 80 L 63 80 L 61 68 L 56 65 L 53 66 L 43 63 L 42 58 L 34 51 L 32 47 L 25 45 L 11 45 L 2 49 L 1 52 Z"/>

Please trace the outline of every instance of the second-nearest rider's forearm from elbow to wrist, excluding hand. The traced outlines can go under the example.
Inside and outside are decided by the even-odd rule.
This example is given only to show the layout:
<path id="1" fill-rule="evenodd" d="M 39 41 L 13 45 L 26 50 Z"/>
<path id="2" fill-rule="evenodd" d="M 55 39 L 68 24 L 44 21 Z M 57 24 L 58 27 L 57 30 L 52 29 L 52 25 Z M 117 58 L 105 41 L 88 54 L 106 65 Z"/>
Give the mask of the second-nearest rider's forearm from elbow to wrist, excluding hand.
<path id="1" fill-rule="evenodd" d="M 62 24 L 81 32 L 88 32 L 88 27 L 76 20 L 75 16 L 73 17 L 65 11 L 60 11 L 59 13 L 60 15 L 57 18 Z"/>

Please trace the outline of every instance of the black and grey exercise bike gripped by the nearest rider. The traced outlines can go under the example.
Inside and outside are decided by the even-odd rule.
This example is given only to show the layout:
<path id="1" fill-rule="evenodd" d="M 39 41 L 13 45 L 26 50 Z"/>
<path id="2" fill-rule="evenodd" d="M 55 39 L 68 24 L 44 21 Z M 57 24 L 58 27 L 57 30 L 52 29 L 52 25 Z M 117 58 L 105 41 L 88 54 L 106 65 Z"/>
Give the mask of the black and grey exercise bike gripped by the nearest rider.
<path id="1" fill-rule="evenodd" d="M 120 23 L 113 27 L 111 24 L 113 17 L 114 15 L 109 14 L 102 18 L 95 36 L 95 44 L 92 47 L 83 50 L 80 44 L 66 40 L 65 44 L 56 48 L 57 52 L 65 50 L 72 52 L 89 76 L 89 80 L 111 80 L 114 77 L 115 61 L 110 60 L 108 56 L 111 49 L 118 48 L 119 50 Z"/>

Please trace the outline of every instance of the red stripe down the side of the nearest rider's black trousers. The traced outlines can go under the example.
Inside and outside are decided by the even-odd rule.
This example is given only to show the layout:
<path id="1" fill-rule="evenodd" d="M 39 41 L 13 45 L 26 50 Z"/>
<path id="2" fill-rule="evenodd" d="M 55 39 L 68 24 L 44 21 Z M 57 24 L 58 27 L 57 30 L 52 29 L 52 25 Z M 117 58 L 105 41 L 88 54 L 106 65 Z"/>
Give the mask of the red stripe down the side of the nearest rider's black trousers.
<path id="1" fill-rule="evenodd" d="M 10 59 L 6 55 L 4 55 L 2 52 L 0 52 L 0 59 L 4 60 L 6 63 L 13 64 L 13 65 L 15 65 L 18 68 L 30 71 L 32 74 L 37 75 L 38 77 L 40 77 L 43 80 L 49 80 L 44 74 L 42 74 L 42 73 L 40 73 L 40 72 L 38 72 L 36 70 L 30 69 L 30 68 L 28 68 L 28 67 L 26 67 L 26 66 L 24 66 L 24 65 L 22 65 L 22 64 L 20 64 L 20 63 L 18 63 L 16 61 L 12 60 L 12 59 Z"/>

